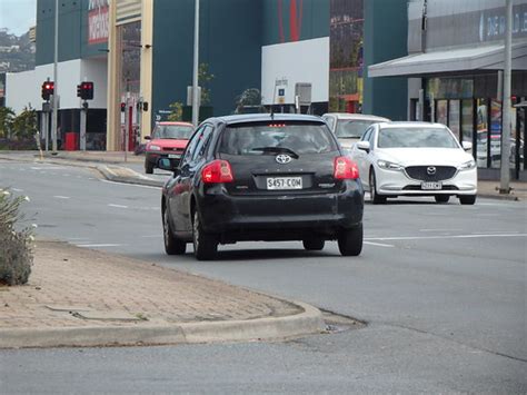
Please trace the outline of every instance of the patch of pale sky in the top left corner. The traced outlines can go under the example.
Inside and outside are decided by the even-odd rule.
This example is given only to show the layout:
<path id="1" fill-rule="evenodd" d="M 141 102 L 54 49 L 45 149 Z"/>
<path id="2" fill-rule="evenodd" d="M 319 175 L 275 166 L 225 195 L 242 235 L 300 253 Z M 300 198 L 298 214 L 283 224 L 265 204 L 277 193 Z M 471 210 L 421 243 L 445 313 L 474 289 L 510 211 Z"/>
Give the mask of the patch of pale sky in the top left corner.
<path id="1" fill-rule="evenodd" d="M 0 28 L 22 36 L 36 24 L 37 0 L 0 0 Z"/>

